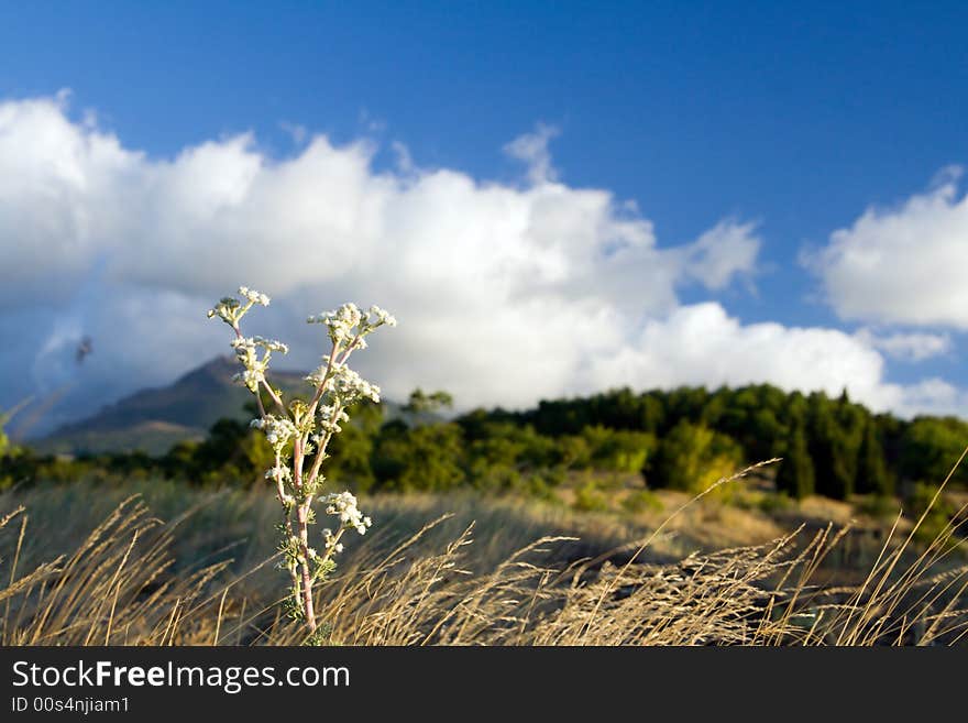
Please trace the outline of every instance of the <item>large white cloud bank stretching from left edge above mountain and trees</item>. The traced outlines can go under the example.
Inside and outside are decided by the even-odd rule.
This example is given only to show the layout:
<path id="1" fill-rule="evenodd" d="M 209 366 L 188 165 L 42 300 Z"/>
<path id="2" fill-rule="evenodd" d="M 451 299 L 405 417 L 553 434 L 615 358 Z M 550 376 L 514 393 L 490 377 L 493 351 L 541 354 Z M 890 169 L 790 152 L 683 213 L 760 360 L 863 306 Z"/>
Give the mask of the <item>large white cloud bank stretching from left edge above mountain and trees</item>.
<path id="1" fill-rule="evenodd" d="M 57 392 L 61 418 L 77 417 L 167 383 L 229 351 L 205 310 L 240 284 L 274 297 L 249 331 L 290 342 L 295 368 L 324 346 L 307 314 L 350 299 L 391 309 L 400 326 L 359 361 L 398 398 L 421 385 L 462 407 L 522 406 L 619 385 L 771 382 L 846 386 L 902 413 L 961 404 L 939 380 L 888 383 L 872 338 L 683 305 L 685 285 L 713 293 L 755 273 L 756 227 L 724 219 L 662 247 L 634 206 L 559 179 L 553 135 L 539 125 L 508 144 L 526 164 L 514 185 L 420 167 L 399 145 L 400 163 L 377 171 L 372 143 L 324 135 L 285 158 L 251 134 L 156 158 L 72 119 L 64 97 L 2 102 L 0 332 L 19 342 L 0 349 L 13 380 L 0 404 Z M 925 202 L 950 206 L 945 193 Z M 82 333 L 95 352 L 78 368 Z"/>

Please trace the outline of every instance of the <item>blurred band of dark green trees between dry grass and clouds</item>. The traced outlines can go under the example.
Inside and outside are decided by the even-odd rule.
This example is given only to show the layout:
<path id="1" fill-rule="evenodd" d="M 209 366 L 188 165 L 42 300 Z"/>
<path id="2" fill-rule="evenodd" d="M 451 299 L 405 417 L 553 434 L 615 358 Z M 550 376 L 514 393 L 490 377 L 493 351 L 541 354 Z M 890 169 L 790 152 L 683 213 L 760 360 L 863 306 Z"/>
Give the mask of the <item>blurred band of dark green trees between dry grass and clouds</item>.
<path id="1" fill-rule="evenodd" d="M 457 416 L 448 413 L 450 402 L 446 393 L 417 391 L 393 416 L 384 406 L 361 405 L 332 445 L 330 473 L 360 491 L 473 486 L 543 494 L 576 471 L 698 491 L 746 463 L 781 457 L 773 468 L 778 491 L 846 500 L 937 484 L 968 443 L 968 424 L 956 417 L 904 420 L 872 414 L 846 392 L 804 395 L 767 384 L 622 388 Z M 0 456 L 0 484 L 8 485 L 79 474 L 254 482 L 272 464 L 262 436 L 233 419 L 158 458 L 131 452 L 64 460 L 23 448 Z M 968 470 L 959 468 L 953 482 L 968 483 Z"/>

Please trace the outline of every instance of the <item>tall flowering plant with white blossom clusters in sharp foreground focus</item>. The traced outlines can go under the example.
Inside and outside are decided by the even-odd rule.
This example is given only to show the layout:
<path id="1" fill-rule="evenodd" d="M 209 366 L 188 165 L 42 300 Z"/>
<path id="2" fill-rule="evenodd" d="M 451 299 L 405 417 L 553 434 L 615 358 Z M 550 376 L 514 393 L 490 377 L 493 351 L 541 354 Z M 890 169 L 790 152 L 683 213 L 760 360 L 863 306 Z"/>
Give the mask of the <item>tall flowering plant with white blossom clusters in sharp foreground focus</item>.
<path id="1" fill-rule="evenodd" d="M 306 624 L 307 642 L 316 644 L 321 639 L 321 628 L 314 611 L 314 588 L 336 569 L 333 558 L 343 550 L 343 535 L 365 535 L 373 524 L 360 512 L 352 493 L 323 494 L 326 450 L 333 435 L 342 430 L 340 425 L 349 421 L 346 410 L 353 404 L 363 399 L 380 402 L 380 387 L 363 380 L 348 362 L 354 351 L 366 348 L 369 335 L 384 326 L 396 326 L 396 319 L 378 306 L 362 311 L 355 304 L 310 316 L 309 324 L 327 328 L 330 350 L 319 368 L 306 377 L 311 385 L 309 401 L 297 398 L 287 406 L 283 392 L 266 379 L 266 371 L 272 354 L 286 354 L 288 347 L 263 337 L 246 337 L 240 327 L 242 317 L 254 306 L 268 306 L 270 297 L 246 286 L 239 288 L 239 296 L 220 299 L 208 316 L 221 319 L 235 332 L 231 344 L 242 366 L 235 381 L 255 396 L 258 416 L 252 426 L 265 435 L 274 453 L 274 464 L 265 476 L 283 507 L 278 527 L 280 567 L 292 580 L 287 609 L 292 617 Z M 320 502 L 326 514 L 337 519 L 332 529 L 322 530 L 321 549 L 309 539 L 309 526 L 316 522 L 315 502 Z"/>

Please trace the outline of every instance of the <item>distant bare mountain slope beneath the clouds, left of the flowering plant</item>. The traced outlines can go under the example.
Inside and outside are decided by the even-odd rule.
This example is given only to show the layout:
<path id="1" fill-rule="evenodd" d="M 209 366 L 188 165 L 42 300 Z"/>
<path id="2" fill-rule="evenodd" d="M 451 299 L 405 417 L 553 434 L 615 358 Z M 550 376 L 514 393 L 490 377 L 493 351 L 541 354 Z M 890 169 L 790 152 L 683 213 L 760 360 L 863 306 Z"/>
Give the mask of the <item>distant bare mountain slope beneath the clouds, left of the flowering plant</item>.
<path id="1" fill-rule="evenodd" d="M 252 395 L 232 383 L 239 366 L 219 357 L 168 386 L 142 390 L 97 414 L 59 427 L 32 442 L 43 452 L 105 452 L 141 449 L 161 454 L 184 439 L 201 439 L 218 419 L 245 419 Z M 305 388 L 304 373 L 274 372 L 273 384 L 285 391 Z"/>

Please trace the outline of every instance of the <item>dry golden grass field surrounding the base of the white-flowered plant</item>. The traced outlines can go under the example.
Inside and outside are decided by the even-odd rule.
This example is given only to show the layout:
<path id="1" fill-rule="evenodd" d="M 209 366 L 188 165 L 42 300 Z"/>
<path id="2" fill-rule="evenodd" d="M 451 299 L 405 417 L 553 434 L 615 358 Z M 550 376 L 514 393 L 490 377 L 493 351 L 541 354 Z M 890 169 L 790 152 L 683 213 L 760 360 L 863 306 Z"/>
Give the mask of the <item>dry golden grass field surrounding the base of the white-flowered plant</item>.
<path id="1" fill-rule="evenodd" d="M 625 515 L 365 502 L 372 535 L 318 591 L 333 645 L 935 645 L 968 629 L 964 507 L 933 541 L 899 518 L 871 545 L 817 501 L 773 517 L 715 495 Z M 0 496 L 0 515 L 4 645 L 301 642 L 265 490 L 37 485 Z"/>

